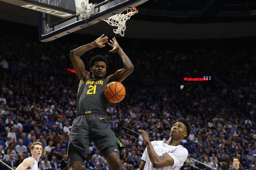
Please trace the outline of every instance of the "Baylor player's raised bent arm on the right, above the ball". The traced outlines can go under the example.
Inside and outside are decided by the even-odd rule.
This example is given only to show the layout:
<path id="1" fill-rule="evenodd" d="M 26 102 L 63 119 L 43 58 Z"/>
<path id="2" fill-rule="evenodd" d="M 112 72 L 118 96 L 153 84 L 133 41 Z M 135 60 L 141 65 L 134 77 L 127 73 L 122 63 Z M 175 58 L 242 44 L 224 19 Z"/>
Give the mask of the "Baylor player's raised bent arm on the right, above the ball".
<path id="1" fill-rule="evenodd" d="M 116 38 L 114 37 L 112 40 L 110 40 L 111 43 L 108 42 L 108 45 L 112 47 L 113 49 L 109 52 L 112 53 L 118 53 L 123 61 L 124 68 L 117 70 L 114 74 L 108 76 L 106 79 L 108 82 L 112 81 L 123 81 L 127 76 L 129 76 L 133 71 L 133 65 L 129 57 L 124 53 L 123 49 L 119 46 L 119 44 L 116 41 Z"/>

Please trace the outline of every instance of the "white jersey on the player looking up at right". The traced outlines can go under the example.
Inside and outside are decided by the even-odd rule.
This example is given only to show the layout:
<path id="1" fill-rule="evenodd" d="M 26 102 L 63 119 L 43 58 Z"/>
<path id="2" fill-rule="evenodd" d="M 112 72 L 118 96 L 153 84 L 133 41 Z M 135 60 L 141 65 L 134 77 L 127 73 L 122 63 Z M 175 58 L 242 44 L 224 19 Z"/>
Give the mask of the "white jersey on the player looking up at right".
<path id="1" fill-rule="evenodd" d="M 172 166 L 166 166 L 163 168 L 159 168 L 158 170 L 179 170 L 183 163 L 188 157 L 188 150 L 181 145 L 172 146 L 165 144 L 163 140 L 161 141 L 152 141 L 151 144 L 154 147 L 155 152 L 158 156 L 163 156 L 165 153 L 168 153 L 172 159 L 174 160 L 174 164 Z M 148 157 L 148 150 L 145 149 L 142 157 L 142 160 L 146 161 L 144 169 L 147 170 L 156 170 L 153 168 L 153 165 Z"/>

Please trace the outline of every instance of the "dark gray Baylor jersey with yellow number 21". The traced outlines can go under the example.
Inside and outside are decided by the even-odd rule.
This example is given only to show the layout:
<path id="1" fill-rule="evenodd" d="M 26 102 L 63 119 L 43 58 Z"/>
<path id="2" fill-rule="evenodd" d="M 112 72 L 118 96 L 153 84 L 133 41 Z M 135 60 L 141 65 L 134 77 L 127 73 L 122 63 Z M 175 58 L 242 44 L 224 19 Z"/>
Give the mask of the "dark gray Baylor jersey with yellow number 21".
<path id="1" fill-rule="evenodd" d="M 108 82 L 105 78 L 86 78 L 83 85 L 77 91 L 77 114 L 106 114 L 108 100 L 104 96 L 104 90 L 107 85 Z"/>

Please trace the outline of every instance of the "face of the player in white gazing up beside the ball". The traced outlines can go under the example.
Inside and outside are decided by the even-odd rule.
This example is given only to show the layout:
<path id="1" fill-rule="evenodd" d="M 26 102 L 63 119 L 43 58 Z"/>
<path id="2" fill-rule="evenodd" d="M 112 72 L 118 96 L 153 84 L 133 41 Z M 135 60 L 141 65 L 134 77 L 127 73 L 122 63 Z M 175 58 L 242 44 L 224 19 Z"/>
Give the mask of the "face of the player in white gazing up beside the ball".
<path id="1" fill-rule="evenodd" d="M 186 125 L 182 122 L 174 123 L 174 125 L 171 128 L 170 135 L 172 139 L 180 139 L 180 138 L 183 139 L 188 135 Z"/>

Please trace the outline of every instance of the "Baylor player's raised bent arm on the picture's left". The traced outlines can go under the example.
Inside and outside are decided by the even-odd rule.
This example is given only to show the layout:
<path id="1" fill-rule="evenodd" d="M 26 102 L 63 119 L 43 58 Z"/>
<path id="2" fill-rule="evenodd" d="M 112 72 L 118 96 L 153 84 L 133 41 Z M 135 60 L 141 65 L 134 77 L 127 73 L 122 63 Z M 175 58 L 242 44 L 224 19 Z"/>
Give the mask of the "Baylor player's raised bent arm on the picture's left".
<path id="1" fill-rule="evenodd" d="M 72 65 L 76 71 L 76 74 L 80 80 L 79 86 L 84 83 L 84 79 L 89 77 L 90 74 L 85 70 L 85 66 L 83 61 L 81 60 L 81 55 L 83 55 L 86 51 L 95 48 L 95 47 L 105 47 L 104 45 L 106 42 L 108 42 L 108 37 L 103 37 L 104 34 L 102 34 L 99 38 L 97 38 L 94 42 L 83 45 L 81 47 L 78 47 L 74 50 L 70 51 L 70 59 L 72 62 Z"/>

